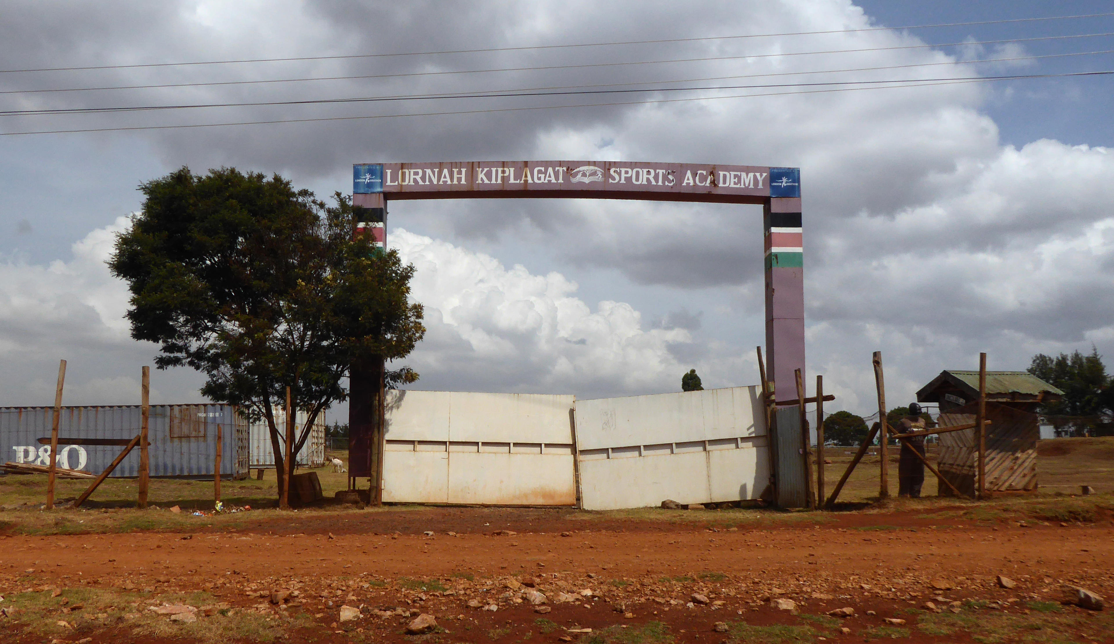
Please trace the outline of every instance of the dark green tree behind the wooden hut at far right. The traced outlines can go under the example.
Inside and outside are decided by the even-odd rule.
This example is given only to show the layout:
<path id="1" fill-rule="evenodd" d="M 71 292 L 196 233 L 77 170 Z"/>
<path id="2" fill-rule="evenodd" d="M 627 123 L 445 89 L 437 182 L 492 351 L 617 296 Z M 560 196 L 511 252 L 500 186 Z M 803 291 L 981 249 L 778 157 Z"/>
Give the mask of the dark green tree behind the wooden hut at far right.
<path id="1" fill-rule="evenodd" d="M 1040 411 L 1057 429 L 1071 428 L 1091 433 L 1114 412 L 1114 388 L 1097 349 L 1088 355 L 1078 351 L 1053 358 L 1038 353 L 1028 372 L 1064 391 L 1059 402 L 1042 406 Z"/>

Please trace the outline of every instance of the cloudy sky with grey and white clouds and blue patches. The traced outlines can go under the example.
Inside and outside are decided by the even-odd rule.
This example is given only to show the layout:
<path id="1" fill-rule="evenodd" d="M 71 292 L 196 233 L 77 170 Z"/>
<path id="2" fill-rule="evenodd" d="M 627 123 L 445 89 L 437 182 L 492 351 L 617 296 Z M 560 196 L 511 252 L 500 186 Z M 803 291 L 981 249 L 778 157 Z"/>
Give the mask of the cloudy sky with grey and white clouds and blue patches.
<path id="1" fill-rule="evenodd" d="M 808 371 L 834 409 L 872 411 L 874 350 L 891 406 L 979 351 L 1003 370 L 1114 354 L 1114 81 L 1064 76 L 1114 69 L 1114 16 L 1016 21 L 1108 10 L 7 2 L 0 404 L 49 404 L 60 358 L 66 402 L 138 402 L 155 350 L 130 340 L 104 260 L 138 184 L 183 165 L 321 195 L 369 162 L 799 166 Z M 990 22 L 938 26 L 975 21 Z M 1048 76 L 971 81 L 1019 75 Z M 705 89 L 667 91 L 683 87 Z M 292 104 L 538 88 L 653 91 Z M 228 105 L 248 103 L 270 105 Z M 197 105 L 222 107 L 106 109 Z M 213 124 L 250 125 L 179 127 Z M 761 227 L 753 206 L 397 203 L 389 240 L 418 267 L 429 328 L 408 362 L 422 389 L 599 398 L 676 391 L 691 368 L 705 388 L 754 384 Z M 153 400 L 198 401 L 199 383 L 155 372 Z"/>

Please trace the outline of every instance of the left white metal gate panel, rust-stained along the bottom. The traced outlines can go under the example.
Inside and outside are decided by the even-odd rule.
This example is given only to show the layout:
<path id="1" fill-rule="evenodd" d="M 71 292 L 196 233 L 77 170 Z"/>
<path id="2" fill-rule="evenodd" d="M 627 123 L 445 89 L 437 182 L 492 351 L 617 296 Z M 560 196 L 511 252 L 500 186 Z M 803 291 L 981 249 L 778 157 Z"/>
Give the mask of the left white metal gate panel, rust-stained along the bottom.
<path id="1" fill-rule="evenodd" d="M 389 391 L 383 500 L 576 505 L 571 396 Z"/>

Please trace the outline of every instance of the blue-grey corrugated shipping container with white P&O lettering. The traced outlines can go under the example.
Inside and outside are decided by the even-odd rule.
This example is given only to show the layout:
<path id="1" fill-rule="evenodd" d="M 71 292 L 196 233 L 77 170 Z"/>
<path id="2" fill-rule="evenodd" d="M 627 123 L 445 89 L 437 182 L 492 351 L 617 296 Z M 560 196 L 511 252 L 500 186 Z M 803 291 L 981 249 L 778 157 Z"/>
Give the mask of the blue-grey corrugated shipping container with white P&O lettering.
<path id="1" fill-rule="evenodd" d="M 0 408 L 0 455 L 6 461 L 50 465 L 53 408 Z M 139 433 L 141 409 L 121 407 L 63 407 L 60 438 L 130 439 Z M 148 425 L 150 476 L 212 477 L 216 455 L 216 427 L 223 429 L 221 475 L 247 475 L 247 421 L 229 404 L 153 404 Z M 58 465 L 99 474 L 121 447 L 59 446 Z M 113 477 L 139 476 L 139 449 L 113 471 Z"/>

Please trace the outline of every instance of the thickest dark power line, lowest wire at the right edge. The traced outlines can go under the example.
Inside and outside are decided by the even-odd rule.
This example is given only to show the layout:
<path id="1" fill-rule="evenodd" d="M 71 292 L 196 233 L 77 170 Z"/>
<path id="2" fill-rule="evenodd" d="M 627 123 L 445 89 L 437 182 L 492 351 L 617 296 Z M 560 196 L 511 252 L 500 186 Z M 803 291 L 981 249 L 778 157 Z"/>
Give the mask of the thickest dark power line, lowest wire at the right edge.
<path id="1" fill-rule="evenodd" d="M 939 81 L 960 80 L 1023 80 L 1033 78 L 1063 78 L 1076 76 L 1108 76 L 1114 71 L 1072 71 L 1054 74 L 1024 74 L 1009 76 L 968 76 L 951 78 L 905 78 L 892 80 L 831 80 L 818 82 L 779 82 L 764 85 L 729 85 L 711 87 L 658 87 L 638 89 L 577 89 L 568 91 L 515 91 L 504 94 L 457 94 L 451 96 L 427 95 L 427 96 L 368 96 L 354 98 L 309 98 L 302 100 L 268 100 L 256 103 L 209 103 L 194 105 L 158 105 L 158 106 L 133 106 L 133 107 L 85 107 L 85 108 L 52 108 L 52 109 L 27 109 L 27 110 L 2 110 L 0 116 L 60 116 L 81 114 L 117 114 L 127 111 L 156 111 L 170 109 L 197 109 L 215 107 L 268 107 L 268 106 L 293 106 L 293 105 L 339 105 L 349 103 L 388 103 L 399 100 L 446 100 L 462 98 L 534 98 L 548 96 L 583 96 L 583 95 L 612 95 L 612 94 L 642 94 L 647 91 L 675 92 L 675 91 L 720 91 L 729 89 L 775 89 L 784 87 L 829 87 L 834 85 L 886 85 L 886 84 L 932 84 Z"/>

